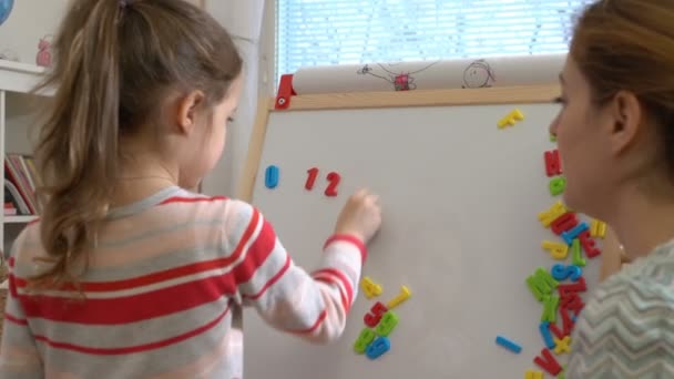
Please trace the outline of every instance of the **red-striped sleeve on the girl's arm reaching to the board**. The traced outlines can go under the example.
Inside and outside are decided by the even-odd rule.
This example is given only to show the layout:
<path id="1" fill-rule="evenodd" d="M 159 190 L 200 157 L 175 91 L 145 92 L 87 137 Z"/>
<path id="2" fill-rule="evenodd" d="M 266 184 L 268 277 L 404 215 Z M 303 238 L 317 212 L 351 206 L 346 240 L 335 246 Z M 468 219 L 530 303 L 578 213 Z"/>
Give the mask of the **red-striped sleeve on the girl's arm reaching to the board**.
<path id="1" fill-rule="evenodd" d="M 253 206 L 231 201 L 226 213 L 229 254 L 242 256 L 233 268 L 241 301 L 277 329 L 313 342 L 338 339 L 358 290 L 364 243 L 350 235 L 331 236 L 323 252 L 316 250 L 318 266 L 307 273 Z"/>

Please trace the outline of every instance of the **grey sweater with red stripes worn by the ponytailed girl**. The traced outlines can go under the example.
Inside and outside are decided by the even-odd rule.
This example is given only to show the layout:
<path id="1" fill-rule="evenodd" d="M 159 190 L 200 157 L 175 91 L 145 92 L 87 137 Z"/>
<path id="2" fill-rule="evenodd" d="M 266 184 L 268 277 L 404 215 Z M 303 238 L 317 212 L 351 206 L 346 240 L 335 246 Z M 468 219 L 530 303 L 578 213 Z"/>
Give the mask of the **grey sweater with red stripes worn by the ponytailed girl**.
<path id="1" fill-rule="evenodd" d="M 242 378 L 236 320 L 254 307 L 314 342 L 341 336 L 366 247 L 330 237 L 319 267 L 294 265 L 253 206 L 177 187 L 113 209 L 88 252 L 82 293 L 33 293 L 40 223 L 18 237 L 0 378 Z"/>

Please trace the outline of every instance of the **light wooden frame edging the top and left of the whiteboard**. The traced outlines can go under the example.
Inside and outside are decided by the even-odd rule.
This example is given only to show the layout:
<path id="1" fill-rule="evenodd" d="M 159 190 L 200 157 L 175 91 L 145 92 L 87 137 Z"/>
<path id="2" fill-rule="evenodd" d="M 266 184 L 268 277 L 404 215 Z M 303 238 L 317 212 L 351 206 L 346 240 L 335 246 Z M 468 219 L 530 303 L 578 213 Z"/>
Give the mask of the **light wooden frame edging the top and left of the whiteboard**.
<path id="1" fill-rule="evenodd" d="M 238 187 L 238 198 L 252 202 L 255 178 L 259 170 L 262 152 L 272 112 L 372 109 L 372 107 L 410 107 L 410 106 L 449 106 L 449 105 L 493 105 L 517 103 L 548 103 L 560 94 L 558 84 L 503 86 L 490 89 L 451 89 L 451 90 L 415 90 L 407 92 L 351 92 L 296 95 L 285 110 L 274 109 L 274 99 L 262 98 L 258 101 L 257 115 L 248 154 Z M 496 121 L 494 121 L 496 123 Z"/>

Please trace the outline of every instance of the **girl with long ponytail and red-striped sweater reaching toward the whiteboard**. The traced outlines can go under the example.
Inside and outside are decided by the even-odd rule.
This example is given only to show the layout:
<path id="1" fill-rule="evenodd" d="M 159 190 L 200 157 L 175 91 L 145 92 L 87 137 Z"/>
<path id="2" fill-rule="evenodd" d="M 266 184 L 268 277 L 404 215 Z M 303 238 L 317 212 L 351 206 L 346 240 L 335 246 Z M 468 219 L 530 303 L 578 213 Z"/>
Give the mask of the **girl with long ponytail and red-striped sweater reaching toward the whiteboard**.
<path id="1" fill-rule="evenodd" d="M 44 206 L 12 249 L 0 377 L 242 378 L 244 306 L 339 338 L 376 196 L 348 199 L 307 274 L 257 209 L 183 190 L 219 158 L 242 90 L 227 32 L 182 0 L 75 0 L 54 48 Z"/>

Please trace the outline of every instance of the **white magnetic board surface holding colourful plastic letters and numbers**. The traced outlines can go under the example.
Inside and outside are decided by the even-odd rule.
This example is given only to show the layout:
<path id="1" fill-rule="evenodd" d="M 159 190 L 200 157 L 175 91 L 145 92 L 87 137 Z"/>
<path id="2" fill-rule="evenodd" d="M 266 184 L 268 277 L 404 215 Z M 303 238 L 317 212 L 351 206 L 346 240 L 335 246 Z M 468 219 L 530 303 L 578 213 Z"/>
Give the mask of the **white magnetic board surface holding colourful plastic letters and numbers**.
<path id="1" fill-rule="evenodd" d="M 497 127 L 515 107 L 524 120 Z M 558 111 L 539 103 L 272 112 L 253 204 L 310 272 L 347 196 L 371 188 L 381 196 L 384 223 L 364 276 L 384 294 L 367 299 L 359 291 L 344 337 L 329 346 L 270 329 L 247 309 L 245 377 L 522 378 L 541 370 L 533 359 L 544 347 L 542 305 L 525 278 L 560 263 L 541 244 L 562 239 L 538 221 L 560 199 L 548 190 L 543 160 L 555 148 L 548 125 Z M 279 168 L 275 188 L 265 186 L 268 165 Z M 319 175 L 306 191 L 312 167 Z M 324 193 L 329 172 L 341 176 L 336 197 Z M 588 293 L 598 268 L 598 259 L 588 259 Z M 395 309 L 400 321 L 390 350 L 375 360 L 357 355 L 364 315 L 401 285 L 412 296 Z M 498 346 L 499 335 L 522 351 Z M 555 358 L 563 365 L 565 356 Z"/>

